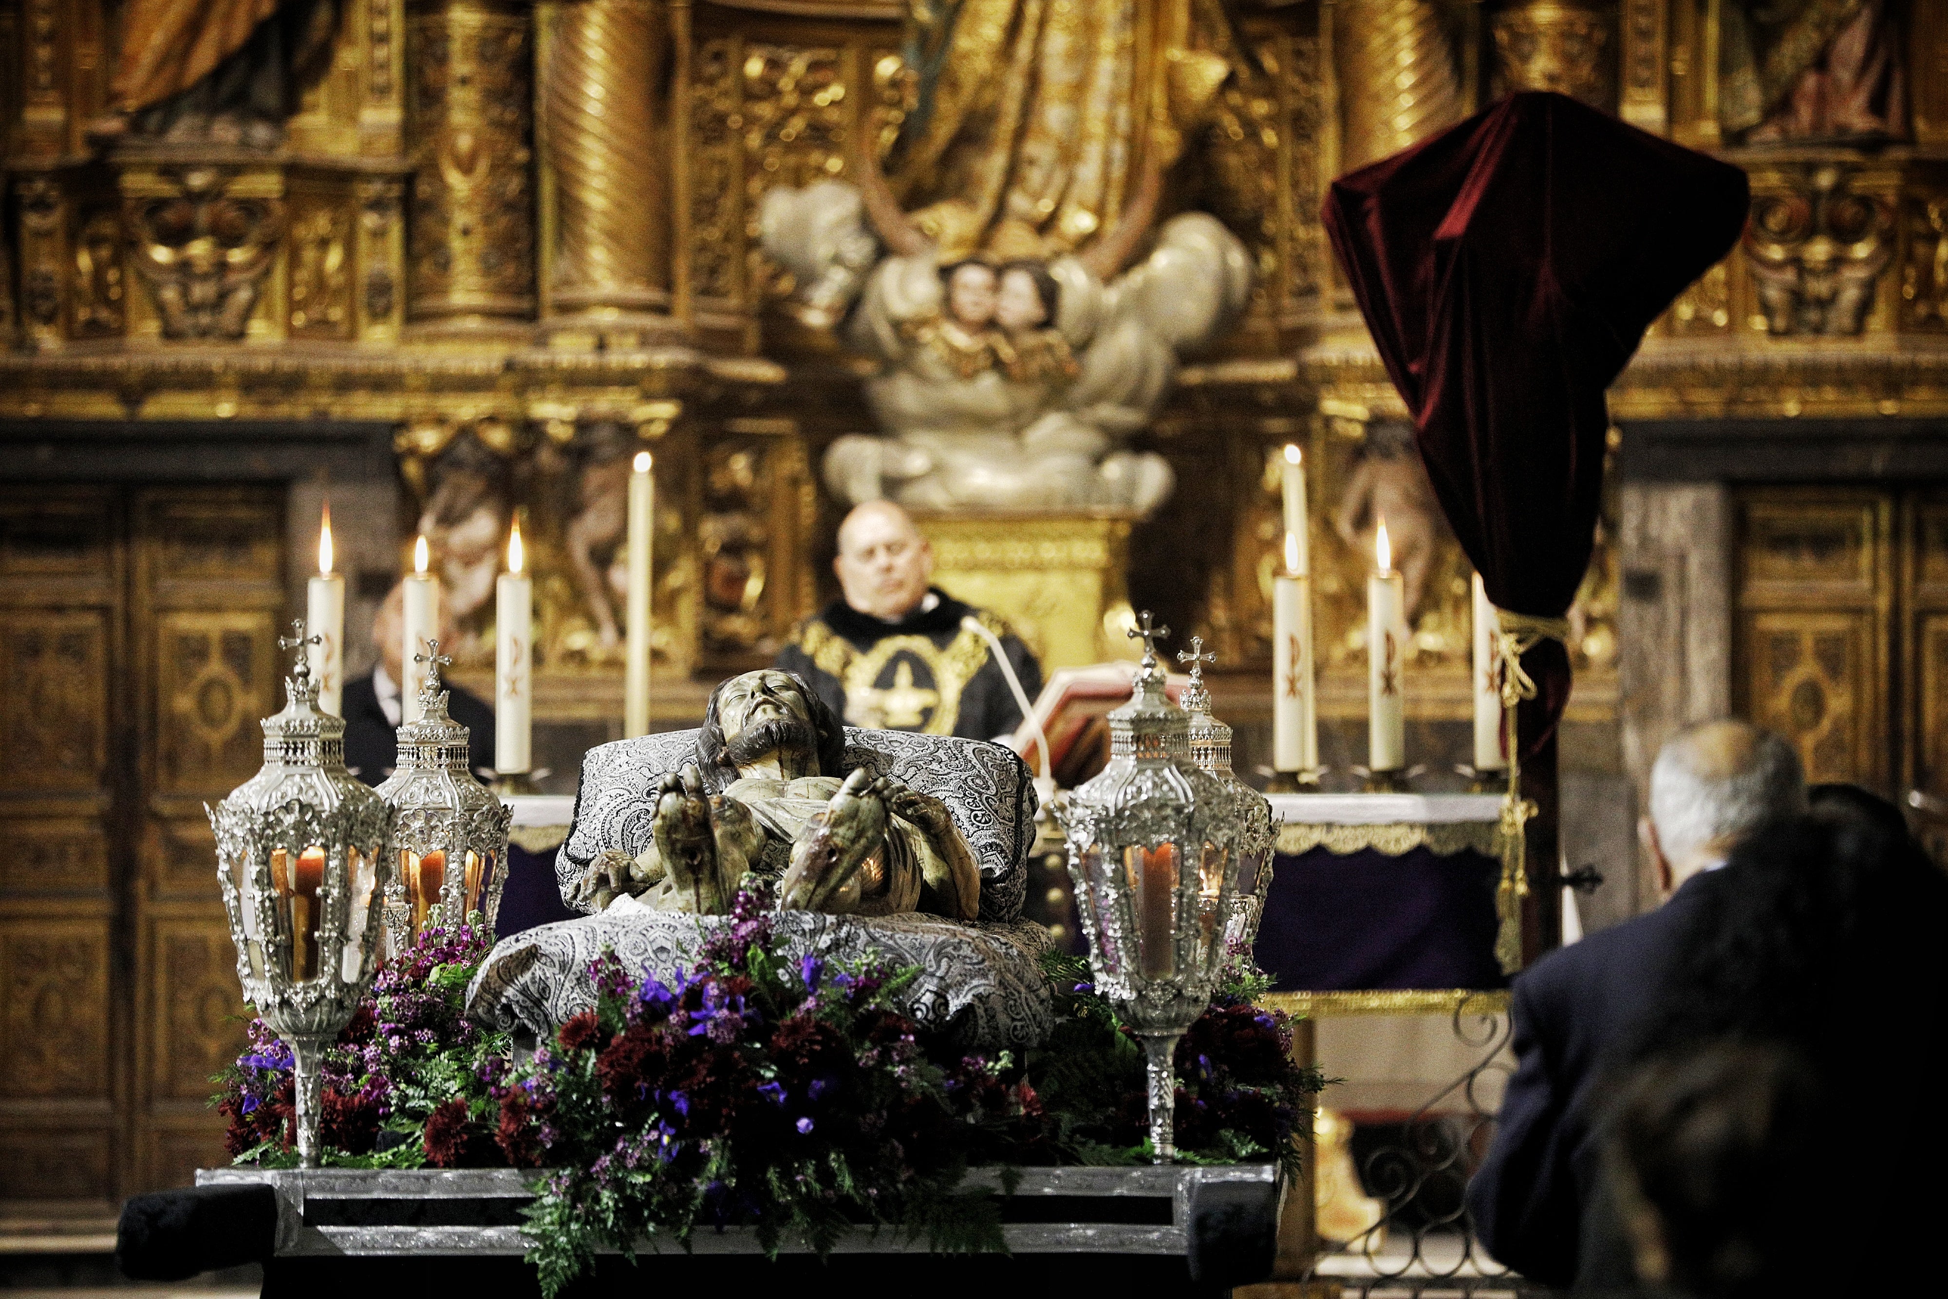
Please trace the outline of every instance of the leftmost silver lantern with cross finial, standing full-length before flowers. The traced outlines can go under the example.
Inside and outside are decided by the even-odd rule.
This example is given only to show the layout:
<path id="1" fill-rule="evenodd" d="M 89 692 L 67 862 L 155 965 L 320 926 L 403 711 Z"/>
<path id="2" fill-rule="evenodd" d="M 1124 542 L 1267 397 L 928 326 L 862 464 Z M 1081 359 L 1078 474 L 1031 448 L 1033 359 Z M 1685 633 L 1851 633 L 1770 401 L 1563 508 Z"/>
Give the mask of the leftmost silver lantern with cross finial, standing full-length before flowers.
<path id="1" fill-rule="evenodd" d="M 263 721 L 263 769 L 214 810 L 218 880 L 244 999 L 292 1052 L 298 1157 L 318 1167 L 319 1063 L 380 962 L 392 808 L 345 769 L 345 721 L 318 711 L 304 623 L 288 703 Z"/>

